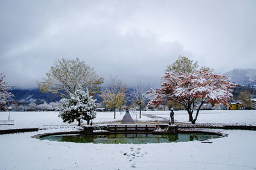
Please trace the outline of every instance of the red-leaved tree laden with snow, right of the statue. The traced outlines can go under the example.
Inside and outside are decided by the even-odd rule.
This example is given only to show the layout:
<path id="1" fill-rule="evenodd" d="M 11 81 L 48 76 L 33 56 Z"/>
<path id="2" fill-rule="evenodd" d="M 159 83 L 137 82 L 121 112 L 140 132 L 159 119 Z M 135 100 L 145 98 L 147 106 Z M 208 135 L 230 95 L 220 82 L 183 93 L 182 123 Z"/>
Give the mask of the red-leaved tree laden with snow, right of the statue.
<path id="1" fill-rule="evenodd" d="M 165 72 L 161 88 L 150 89 L 148 92 L 154 96 L 148 105 L 159 105 L 166 99 L 174 100 L 184 105 L 189 114 L 189 121 L 194 124 L 205 102 L 229 105 L 228 99 L 232 97 L 231 91 L 235 86 L 225 75 L 213 73 L 209 68 L 202 68 L 193 73 Z"/>

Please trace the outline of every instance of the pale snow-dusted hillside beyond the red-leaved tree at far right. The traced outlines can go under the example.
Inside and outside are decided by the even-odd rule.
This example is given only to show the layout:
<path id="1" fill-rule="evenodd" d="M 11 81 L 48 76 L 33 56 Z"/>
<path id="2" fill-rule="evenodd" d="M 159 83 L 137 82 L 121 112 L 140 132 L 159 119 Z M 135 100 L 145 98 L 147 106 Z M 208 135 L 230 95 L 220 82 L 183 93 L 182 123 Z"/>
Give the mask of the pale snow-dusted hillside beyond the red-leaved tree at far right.
<path id="1" fill-rule="evenodd" d="M 230 81 L 244 86 L 256 86 L 256 69 L 236 68 L 225 73 Z"/>

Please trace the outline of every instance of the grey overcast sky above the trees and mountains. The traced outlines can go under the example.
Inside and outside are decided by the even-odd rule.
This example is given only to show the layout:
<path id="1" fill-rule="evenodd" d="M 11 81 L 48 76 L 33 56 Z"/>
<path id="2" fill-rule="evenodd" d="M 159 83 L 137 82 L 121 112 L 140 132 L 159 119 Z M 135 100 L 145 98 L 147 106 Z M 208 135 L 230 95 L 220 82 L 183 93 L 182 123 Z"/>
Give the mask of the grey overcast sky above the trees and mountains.
<path id="1" fill-rule="evenodd" d="M 215 72 L 256 68 L 256 1 L 0 1 L 0 72 L 36 88 L 59 58 L 108 82 L 160 84 L 178 56 Z"/>

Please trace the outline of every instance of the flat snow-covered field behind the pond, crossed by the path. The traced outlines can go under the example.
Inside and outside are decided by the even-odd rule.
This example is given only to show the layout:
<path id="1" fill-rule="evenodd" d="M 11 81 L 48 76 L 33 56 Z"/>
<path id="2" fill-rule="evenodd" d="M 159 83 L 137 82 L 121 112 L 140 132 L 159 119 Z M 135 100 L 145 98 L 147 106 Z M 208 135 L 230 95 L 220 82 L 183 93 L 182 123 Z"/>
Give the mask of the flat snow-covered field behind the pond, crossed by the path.
<path id="1" fill-rule="evenodd" d="M 140 112 L 130 112 L 134 121 L 167 121 L 170 117 L 170 111 L 143 111 L 141 119 Z M 8 120 L 9 112 L 0 112 L 0 120 Z M 114 120 L 113 112 L 97 112 L 97 117 L 93 123 L 102 123 L 109 121 L 122 120 L 125 112 L 116 112 Z M 1 129 L 6 128 L 45 128 L 47 126 L 69 125 L 63 123 L 58 117 L 58 112 L 11 112 L 10 120 L 14 120 L 15 125 L 0 126 Z M 175 122 L 188 123 L 188 112 L 175 111 Z M 225 123 L 233 125 L 256 125 L 256 110 L 246 111 L 200 111 L 196 123 Z M 77 125 L 77 122 L 72 123 Z"/>

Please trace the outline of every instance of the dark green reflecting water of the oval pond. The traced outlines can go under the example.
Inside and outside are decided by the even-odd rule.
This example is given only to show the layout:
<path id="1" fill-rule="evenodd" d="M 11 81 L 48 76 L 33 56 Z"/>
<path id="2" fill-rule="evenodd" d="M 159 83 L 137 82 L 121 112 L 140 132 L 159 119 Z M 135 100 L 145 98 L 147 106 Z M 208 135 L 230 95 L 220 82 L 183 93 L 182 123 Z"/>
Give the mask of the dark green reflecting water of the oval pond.
<path id="1" fill-rule="evenodd" d="M 42 137 L 42 140 L 72 142 L 72 143 L 103 143 L 103 144 L 146 144 L 146 143 L 172 143 L 187 141 L 207 141 L 218 138 L 218 135 L 209 134 L 109 134 L 109 135 L 50 135 Z"/>

